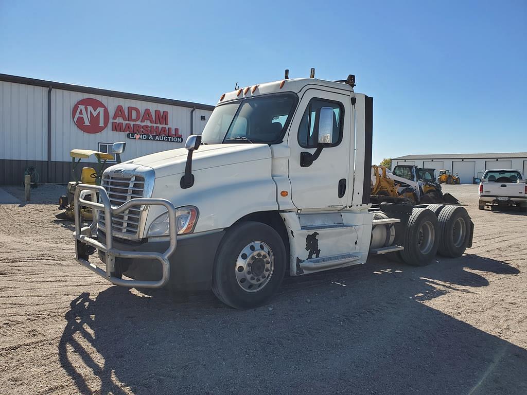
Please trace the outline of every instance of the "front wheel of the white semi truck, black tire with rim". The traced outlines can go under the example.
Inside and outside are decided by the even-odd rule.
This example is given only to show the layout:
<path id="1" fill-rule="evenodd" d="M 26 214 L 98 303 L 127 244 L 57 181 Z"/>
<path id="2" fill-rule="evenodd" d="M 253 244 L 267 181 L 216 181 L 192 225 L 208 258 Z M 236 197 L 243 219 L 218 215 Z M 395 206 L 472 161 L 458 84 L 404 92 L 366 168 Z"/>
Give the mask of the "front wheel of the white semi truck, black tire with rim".
<path id="1" fill-rule="evenodd" d="M 284 242 L 271 226 L 253 221 L 233 225 L 216 255 L 212 291 L 235 309 L 258 307 L 276 293 L 286 265 Z"/>

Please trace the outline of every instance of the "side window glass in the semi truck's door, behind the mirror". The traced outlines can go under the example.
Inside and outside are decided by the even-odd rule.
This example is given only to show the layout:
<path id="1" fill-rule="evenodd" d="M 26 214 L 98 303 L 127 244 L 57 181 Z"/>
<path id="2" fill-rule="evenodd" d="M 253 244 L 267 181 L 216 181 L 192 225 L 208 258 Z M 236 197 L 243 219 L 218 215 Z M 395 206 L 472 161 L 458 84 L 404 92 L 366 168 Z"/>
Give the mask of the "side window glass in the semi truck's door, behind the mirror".
<path id="1" fill-rule="evenodd" d="M 344 107 L 339 102 L 313 98 L 306 108 L 298 128 L 298 143 L 303 148 L 316 148 L 318 145 L 318 119 L 320 108 L 333 108 L 333 141 L 331 146 L 338 145 L 342 140 L 342 123 L 344 120 Z"/>

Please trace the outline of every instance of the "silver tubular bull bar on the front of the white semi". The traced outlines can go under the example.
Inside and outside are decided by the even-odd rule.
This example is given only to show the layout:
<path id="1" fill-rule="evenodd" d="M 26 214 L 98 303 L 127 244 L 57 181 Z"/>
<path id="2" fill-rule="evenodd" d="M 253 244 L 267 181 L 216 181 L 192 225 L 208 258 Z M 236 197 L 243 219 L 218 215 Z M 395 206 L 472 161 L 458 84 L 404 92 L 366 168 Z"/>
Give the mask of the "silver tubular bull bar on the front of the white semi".
<path id="1" fill-rule="evenodd" d="M 101 203 L 97 203 L 97 192 Z M 91 196 L 91 201 L 84 200 L 86 195 Z M 110 197 L 106 190 L 99 185 L 79 184 L 75 189 L 75 260 L 86 268 L 94 271 L 106 280 L 116 285 L 124 287 L 142 287 L 142 288 L 160 288 L 165 285 L 170 278 L 169 257 L 175 251 L 178 243 L 177 235 L 172 231 L 175 229 L 175 208 L 174 205 L 166 199 L 131 199 L 119 207 L 112 206 Z M 112 239 L 112 214 L 121 214 L 133 206 L 142 205 L 161 205 L 168 210 L 169 216 L 169 236 L 170 244 L 166 251 L 146 252 L 146 251 L 123 251 L 113 248 Z M 89 207 L 93 210 L 92 223 L 89 226 L 82 227 L 81 206 Z M 104 226 L 106 234 L 106 243 L 101 243 L 96 239 L 97 224 L 99 222 L 99 211 L 104 212 Z M 94 235 L 95 232 L 95 235 Z M 92 246 L 101 250 L 105 254 L 106 270 L 98 268 L 88 260 L 88 248 Z M 161 262 L 162 276 L 159 281 L 143 280 L 125 280 L 114 276 L 115 258 L 137 258 L 137 259 L 157 259 Z"/>

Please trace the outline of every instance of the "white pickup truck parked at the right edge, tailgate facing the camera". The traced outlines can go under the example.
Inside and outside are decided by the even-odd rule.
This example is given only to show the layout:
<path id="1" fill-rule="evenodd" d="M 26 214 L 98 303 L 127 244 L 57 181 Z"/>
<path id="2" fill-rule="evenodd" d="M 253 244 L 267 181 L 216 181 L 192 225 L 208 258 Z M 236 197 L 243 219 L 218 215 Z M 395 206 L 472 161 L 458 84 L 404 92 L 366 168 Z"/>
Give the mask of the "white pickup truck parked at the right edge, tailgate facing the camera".
<path id="1" fill-rule="evenodd" d="M 479 209 L 486 205 L 516 205 L 527 210 L 527 184 L 519 170 L 487 170 L 479 191 Z"/>

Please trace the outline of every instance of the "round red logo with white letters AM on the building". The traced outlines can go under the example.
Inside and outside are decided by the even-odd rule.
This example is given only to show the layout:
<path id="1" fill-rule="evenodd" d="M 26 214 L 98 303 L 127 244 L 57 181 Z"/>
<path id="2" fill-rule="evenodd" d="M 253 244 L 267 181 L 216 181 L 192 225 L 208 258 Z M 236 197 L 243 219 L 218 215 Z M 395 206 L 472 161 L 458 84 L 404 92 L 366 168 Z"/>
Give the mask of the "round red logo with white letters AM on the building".
<path id="1" fill-rule="evenodd" d="M 110 122 L 108 108 L 94 98 L 79 100 L 72 110 L 73 122 L 85 133 L 101 133 Z"/>

